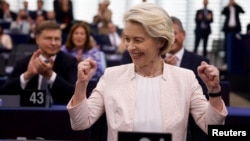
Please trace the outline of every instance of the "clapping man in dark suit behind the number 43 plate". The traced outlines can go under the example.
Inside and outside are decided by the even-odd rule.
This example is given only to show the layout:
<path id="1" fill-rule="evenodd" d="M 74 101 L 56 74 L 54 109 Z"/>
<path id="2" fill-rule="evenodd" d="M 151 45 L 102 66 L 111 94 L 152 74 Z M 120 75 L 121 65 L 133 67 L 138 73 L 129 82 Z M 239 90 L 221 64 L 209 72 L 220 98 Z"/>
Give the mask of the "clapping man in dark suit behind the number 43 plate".
<path id="1" fill-rule="evenodd" d="M 35 33 L 39 49 L 16 62 L 1 90 L 15 90 L 18 93 L 29 89 L 39 90 L 42 89 L 42 80 L 46 79 L 45 89 L 52 96 L 53 104 L 67 104 L 74 93 L 77 60 L 60 51 L 61 35 L 57 23 L 44 21 L 39 24 Z"/>

